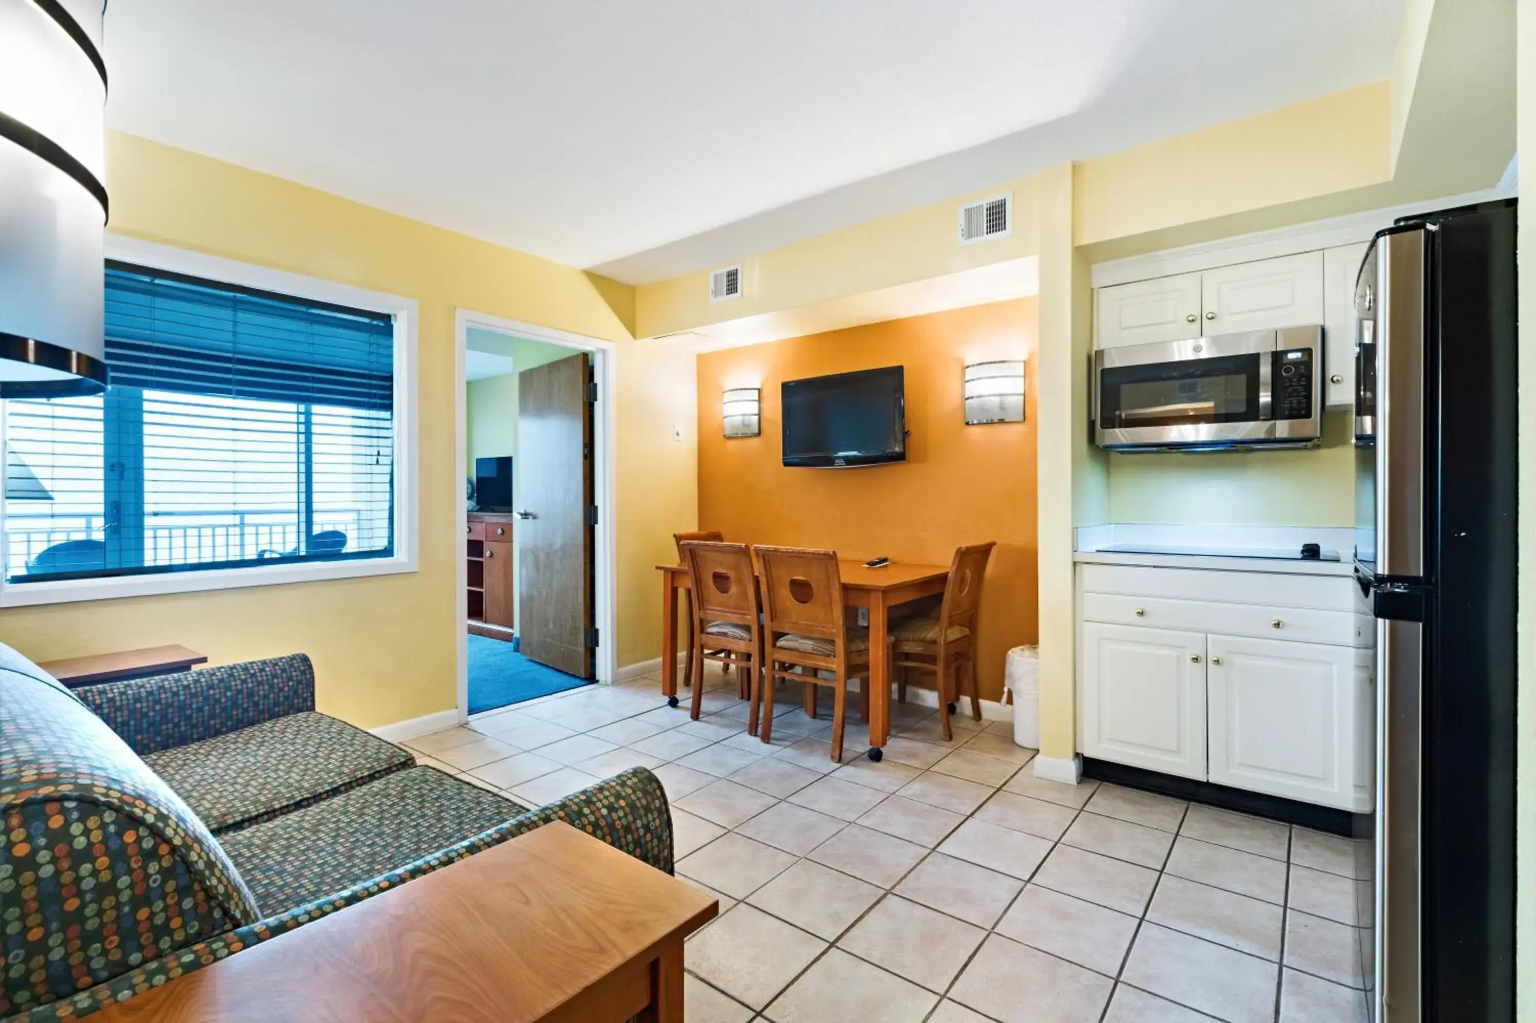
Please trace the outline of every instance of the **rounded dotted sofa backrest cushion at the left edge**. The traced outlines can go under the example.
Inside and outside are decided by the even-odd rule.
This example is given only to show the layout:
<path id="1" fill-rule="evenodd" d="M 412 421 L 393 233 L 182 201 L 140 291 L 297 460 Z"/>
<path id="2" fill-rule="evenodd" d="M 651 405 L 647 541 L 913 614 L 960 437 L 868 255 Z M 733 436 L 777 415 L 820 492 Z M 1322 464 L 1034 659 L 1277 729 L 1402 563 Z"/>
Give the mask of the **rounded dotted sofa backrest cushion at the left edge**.
<path id="1" fill-rule="evenodd" d="M 186 802 L 38 676 L 0 648 L 0 1015 L 258 917 Z"/>

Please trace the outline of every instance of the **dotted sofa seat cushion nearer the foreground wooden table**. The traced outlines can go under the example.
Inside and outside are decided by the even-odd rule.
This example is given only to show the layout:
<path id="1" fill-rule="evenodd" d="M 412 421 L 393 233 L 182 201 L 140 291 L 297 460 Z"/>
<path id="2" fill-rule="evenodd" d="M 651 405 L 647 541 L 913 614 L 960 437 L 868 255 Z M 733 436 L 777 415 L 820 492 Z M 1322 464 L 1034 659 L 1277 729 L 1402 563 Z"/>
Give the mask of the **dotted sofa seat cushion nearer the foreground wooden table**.
<path id="1" fill-rule="evenodd" d="M 432 856 L 527 808 L 436 768 L 413 766 L 241 828 L 224 849 L 266 915 Z"/>

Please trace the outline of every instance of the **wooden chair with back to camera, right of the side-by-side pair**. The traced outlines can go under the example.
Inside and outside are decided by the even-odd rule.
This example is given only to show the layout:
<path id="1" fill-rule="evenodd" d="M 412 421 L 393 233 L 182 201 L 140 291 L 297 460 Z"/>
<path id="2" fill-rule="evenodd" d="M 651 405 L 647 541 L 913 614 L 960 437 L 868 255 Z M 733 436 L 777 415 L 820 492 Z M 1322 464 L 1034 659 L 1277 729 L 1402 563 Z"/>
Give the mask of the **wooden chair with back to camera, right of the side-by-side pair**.
<path id="1" fill-rule="evenodd" d="M 843 621 L 843 582 L 836 553 L 797 547 L 753 547 L 753 553 L 762 570 L 768 644 L 762 740 L 773 742 L 773 694 L 779 679 L 802 684 L 805 710 L 813 717 L 813 687 L 829 687 L 833 760 L 842 762 L 849 679 L 862 679 L 863 719 L 865 723 L 869 720 L 869 630 L 848 628 Z"/>

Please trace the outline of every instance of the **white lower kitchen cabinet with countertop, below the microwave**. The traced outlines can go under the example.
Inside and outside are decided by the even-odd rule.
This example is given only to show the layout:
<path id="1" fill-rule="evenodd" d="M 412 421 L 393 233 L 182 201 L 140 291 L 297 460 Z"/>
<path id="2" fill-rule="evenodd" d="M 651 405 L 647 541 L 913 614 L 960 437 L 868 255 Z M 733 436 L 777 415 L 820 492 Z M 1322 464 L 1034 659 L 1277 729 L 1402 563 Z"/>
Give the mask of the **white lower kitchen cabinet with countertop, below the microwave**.
<path id="1" fill-rule="evenodd" d="M 1356 628 L 1353 581 L 1084 568 L 1083 756 L 1373 809 L 1373 636 Z M 1260 602 L 1263 594 L 1293 604 Z"/>

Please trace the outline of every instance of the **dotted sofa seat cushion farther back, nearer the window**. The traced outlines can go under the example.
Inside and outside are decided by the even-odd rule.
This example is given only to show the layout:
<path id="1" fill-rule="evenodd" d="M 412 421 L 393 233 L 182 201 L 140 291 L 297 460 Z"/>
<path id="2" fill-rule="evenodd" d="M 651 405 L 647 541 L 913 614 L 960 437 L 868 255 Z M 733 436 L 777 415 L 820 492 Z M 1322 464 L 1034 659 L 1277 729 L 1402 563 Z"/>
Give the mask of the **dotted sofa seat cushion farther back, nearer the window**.
<path id="1" fill-rule="evenodd" d="M 412 766 L 415 759 L 344 720 L 304 711 L 151 753 L 144 763 L 223 834 Z"/>

